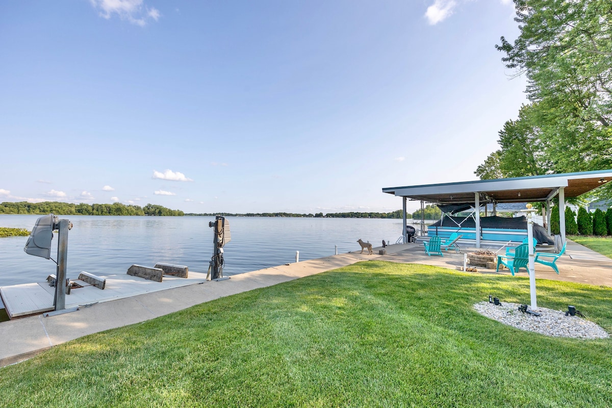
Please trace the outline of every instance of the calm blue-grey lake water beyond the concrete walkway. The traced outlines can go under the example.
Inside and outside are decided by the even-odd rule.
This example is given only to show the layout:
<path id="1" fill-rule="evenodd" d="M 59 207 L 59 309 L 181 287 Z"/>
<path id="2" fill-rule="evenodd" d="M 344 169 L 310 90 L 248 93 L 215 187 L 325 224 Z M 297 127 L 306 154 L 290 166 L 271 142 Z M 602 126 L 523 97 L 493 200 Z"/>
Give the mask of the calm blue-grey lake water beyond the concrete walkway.
<path id="1" fill-rule="evenodd" d="M 0 215 L 0 226 L 31 230 L 40 215 Z M 156 262 L 187 265 L 206 272 L 212 256 L 214 217 L 60 216 L 73 223 L 68 239 L 67 277 L 125 273 L 130 265 Z M 357 239 L 375 247 L 395 243 L 401 220 L 360 218 L 227 217 L 231 241 L 223 250 L 224 276 L 360 250 Z M 0 238 L 0 286 L 44 281 L 53 261 L 23 251 L 28 237 Z M 51 258 L 57 260 L 54 234 Z"/>

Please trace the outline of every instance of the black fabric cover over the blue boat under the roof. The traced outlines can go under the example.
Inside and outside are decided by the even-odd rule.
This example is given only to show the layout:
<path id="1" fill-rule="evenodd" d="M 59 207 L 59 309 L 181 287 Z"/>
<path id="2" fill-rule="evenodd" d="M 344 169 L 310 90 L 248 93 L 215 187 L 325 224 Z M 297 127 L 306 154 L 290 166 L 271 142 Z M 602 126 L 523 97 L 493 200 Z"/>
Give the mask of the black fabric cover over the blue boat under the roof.
<path id="1" fill-rule="evenodd" d="M 454 221 L 454 222 L 453 222 Z M 459 226 L 461 224 L 461 227 Z M 547 243 L 554 245 L 554 239 L 546 229 L 540 224 L 534 223 L 534 238 L 537 243 Z M 459 228 L 476 228 L 476 220 L 469 217 L 449 217 L 447 215 L 442 220 L 431 224 L 433 227 L 456 227 Z M 480 217 L 480 228 L 504 228 L 504 229 L 523 229 L 527 231 L 527 218 L 525 217 Z"/>

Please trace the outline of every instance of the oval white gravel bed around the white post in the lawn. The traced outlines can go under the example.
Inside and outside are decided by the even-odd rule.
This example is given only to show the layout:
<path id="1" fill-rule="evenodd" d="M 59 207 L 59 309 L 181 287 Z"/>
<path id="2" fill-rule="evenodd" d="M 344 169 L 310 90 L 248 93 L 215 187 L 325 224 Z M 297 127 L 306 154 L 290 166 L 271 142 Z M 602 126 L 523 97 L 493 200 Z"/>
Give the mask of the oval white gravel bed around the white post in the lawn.
<path id="1" fill-rule="evenodd" d="M 537 308 L 541 316 L 534 316 L 518 310 L 518 303 L 502 302 L 496 306 L 487 301 L 476 303 L 474 309 L 483 316 L 498 322 L 536 332 L 547 336 L 573 337 L 582 339 L 609 338 L 610 335 L 594 322 L 579 316 L 565 316 L 565 311 Z M 531 309 L 531 308 L 530 308 Z"/>

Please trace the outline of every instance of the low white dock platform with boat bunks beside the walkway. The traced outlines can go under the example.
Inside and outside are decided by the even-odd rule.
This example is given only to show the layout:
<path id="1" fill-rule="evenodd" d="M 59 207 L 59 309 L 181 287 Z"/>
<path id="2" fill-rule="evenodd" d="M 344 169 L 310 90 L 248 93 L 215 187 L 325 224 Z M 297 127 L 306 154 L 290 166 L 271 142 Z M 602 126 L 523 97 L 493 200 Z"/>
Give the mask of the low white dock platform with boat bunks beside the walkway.
<path id="1" fill-rule="evenodd" d="M 98 289 L 81 280 L 71 280 L 83 287 L 73 287 L 71 289 L 70 294 L 66 295 L 65 308 L 70 309 L 96 302 L 124 299 L 206 281 L 206 273 L 193 271 L 189 271 L 188 278 L 164 275 L 161 282 L 137 278 L 127 275 L 127 273 L 99 276 L 106 279 L 105 289 Z M 55 287 L 49 286 L 47 281 L 0 286 L 0 297 L 2 297 L 2 302 L 10 319 L 52 311 L 54 295 Z"/>

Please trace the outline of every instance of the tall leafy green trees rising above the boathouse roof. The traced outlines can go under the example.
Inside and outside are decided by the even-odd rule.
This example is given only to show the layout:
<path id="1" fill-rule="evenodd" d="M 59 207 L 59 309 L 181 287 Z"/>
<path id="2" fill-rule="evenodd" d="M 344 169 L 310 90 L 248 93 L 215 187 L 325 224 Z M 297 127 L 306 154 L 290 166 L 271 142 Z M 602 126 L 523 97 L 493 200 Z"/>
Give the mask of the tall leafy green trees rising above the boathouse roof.
<path id="1" fill-rule="evenodd" d="M 520 35 L 496 48 L 526 75 L 529 105 L 499 132 L 482 179 L 612 168 L 612 2 L 514 0 Z M 495 165 L 498 157 L 498 167 Z M 612 185 L 600 187 L 612 197 Z"/>

